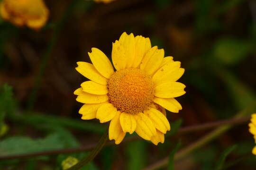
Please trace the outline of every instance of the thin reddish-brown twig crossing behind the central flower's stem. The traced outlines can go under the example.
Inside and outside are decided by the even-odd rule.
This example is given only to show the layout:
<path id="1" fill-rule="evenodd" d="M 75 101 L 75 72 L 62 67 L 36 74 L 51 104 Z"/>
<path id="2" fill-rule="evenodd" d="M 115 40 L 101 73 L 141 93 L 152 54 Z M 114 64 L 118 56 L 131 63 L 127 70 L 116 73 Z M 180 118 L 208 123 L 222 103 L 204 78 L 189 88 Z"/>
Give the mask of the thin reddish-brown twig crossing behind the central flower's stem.
<path id="1" fill-rule="evenodd" d="M 250 119 L 250 117 L 241 117 L 241 118 L 233 118 L 228 120 L 220 120 L 216 122 L 210 122 L 205 123 L 202 125 L 194 125 L 194 126 L 188 126 L 188 127 L 182 127 L 178 131 L 178 134 L 184 134 L 189 133 L 192 131 L 198 131 L 198 130 L 204 130 L 209 129 L 213 127 L 218 127 L 221 125 L 236 125 L 245 123 Z M 122 143 L 134 141 L 134 140 L 140 140 L 141 138 L 138 136 L 132 136 L 127 137 L 124 139 Z M 106 145 L 114 145 L 113 141 L 107 142 Z M 7 156 L 0 156 L 0 160 L 6 160 L 6 159 L 26 159 L 36 156 L 42 156 L 42 155 L 56 155 L 56 154 L 67 154 L 67 153 L 79 153 L 79 152 L 85 152 L 85 151 L 91 151 L 94 147 L 96 147 L 96 144 L 89 144 L 83 147 L 79 148 L 70 148 L 70 149 L 60 149 L 60 150 L 51 150 L 51 151 L 44 151 L 44 152 L 38 152 L 38 153 L 25 153 L 25 154 L 17 154 L 17 155 L 7 155 Z"/>

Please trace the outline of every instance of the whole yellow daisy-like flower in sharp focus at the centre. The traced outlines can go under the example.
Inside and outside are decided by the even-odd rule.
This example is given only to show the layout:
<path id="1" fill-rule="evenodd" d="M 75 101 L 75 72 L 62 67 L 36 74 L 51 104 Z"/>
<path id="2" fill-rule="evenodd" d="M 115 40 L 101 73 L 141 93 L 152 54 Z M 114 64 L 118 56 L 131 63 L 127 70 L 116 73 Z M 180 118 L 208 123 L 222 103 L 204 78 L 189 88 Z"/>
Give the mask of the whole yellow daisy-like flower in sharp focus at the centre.
<path id="1" fill-rule="evenodd" d="M 92 48 L 92 64 L 77 62 L 76 70 L 91 81 L 75 90 L 76 101 L 85 103 L 79 110 L 82 119 L 110 121 L 109 138 L 119 144 L 134 131 L 155 145 L 164 143 L 170 124 L 161 107 L 179 112 L 182 106 L 174 97 L 185 93 L 176 82 L 184 73 L 181 62 L 164 58 L 164 50 L 151 47 L 149 38 L 123 33 L 113 43 L 112 61 Z"/>

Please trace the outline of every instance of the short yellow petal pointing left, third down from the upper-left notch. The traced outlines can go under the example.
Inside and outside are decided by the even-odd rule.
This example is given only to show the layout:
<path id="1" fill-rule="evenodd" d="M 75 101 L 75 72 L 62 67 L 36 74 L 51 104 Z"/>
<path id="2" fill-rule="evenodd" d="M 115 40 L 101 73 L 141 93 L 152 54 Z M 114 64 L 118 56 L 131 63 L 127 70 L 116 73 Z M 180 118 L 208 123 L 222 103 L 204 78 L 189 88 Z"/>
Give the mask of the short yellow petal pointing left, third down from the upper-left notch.
<path id="1" fill-rule="evenodd" d="M 100 85 L 93 81 L 86 81 L 81 84 L 82 90 L 91 94 L 103 95 L 108 93 L 108 89 L 106 85 Z"/>

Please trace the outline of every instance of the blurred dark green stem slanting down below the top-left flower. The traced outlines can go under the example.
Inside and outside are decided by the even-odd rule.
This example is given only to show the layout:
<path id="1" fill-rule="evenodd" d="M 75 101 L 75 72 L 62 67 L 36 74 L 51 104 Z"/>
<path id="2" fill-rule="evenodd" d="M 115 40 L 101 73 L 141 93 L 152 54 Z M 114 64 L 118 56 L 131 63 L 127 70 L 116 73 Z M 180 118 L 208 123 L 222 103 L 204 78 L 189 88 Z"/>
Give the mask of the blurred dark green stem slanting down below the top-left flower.
<path id="1" fill-rule="evenodd" d="M 77 0 L 73 0 L 73 2 L 68 6 L 66 11 L 64 12 L 64 15 L 61 18 L 61 20 L 54 26 L 53 37 L 50 40 L 49 45 L 48 45 L 48 47 L 47 47 L 47 49 L 46 49 L 46 51 L 45 51 L 45 53 L 42 57 L 43 59 L 42 59 L 42 61 L 40 63 L 40 66 L 39 66 L 39 72 L 38 72 L 38 75 L 37 75 L 36 80 L 35 80 L 35 85 L 32 89 L 32 92 L 29 96 L 29 99 L 28 99 L 27 110 L 32 110 L 33 107 L 34 107 L 34 103 L 37 100 L 38 89 L 40 88 L 42 78 L 44 76 L 44 73 L 45 73 L 45 70 L 46 70 L 46 67 L 47 67 L 47 63 L 50 59 L 52 51 L 53 51 L 53 49 L 55 47 L 55 44 L 57 42 L 58 35 L 59 35 L 61 29 L 63 28 L 64 23 L 67 21 L 68 17 L 71 16 L 71 13 L 73 11 L 73 8 L 74 8 L 76 2 L 77 2 Z"/>

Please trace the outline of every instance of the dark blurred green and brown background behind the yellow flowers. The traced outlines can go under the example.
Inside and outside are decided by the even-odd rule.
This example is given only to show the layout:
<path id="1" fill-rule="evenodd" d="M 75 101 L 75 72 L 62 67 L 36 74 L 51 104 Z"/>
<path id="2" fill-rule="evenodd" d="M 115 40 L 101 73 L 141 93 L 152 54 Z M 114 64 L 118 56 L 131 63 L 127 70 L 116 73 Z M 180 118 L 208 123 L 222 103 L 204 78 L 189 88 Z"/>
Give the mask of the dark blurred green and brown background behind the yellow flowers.
<path id="1" fill-rule="evenodd" d="M 90 62 L 91 47 L 111 58 L 112 42 L 124 31 L 149 37 L 152 46 L 163 48 L 165 56 L 185 68 L 179 82 L 187 93 L 177 98 L 183 110 L 167 113 L 174 127 L 231 119 L 256 100 L 255 0 L 45 3 L 50 17 L 40 31 L 0 19 L 0 156 L 89 147 L 99 141 L 108 124 L 81 119 L 82 104 L 73 91 L 85 78 L 74 68 L 77 61 Z M 255 141 L 247 124 L 175 161 L 174 169 L 214 170 L 223 151 L 236 144 L 225 169 L 256 170 L 251 153 Z M 182 149 L 209 132 L 173 133 L 158 146 L 145 140 L 106 146 L 84 169 L 141 170 L 168 156 L 179 140 Z M 0 160 L 0 170 L 61 170 L 68 156 L 81 159 L 86 154 Z"/>

